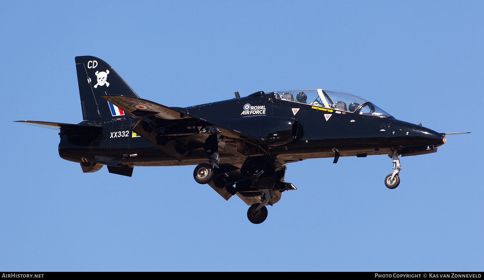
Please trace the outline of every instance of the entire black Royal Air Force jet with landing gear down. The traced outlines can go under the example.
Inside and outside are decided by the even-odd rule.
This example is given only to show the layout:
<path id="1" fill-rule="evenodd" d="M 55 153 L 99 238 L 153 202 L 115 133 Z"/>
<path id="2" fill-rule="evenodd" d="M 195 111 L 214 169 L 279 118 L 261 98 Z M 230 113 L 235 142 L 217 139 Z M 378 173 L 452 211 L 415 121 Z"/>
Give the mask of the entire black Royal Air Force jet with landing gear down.
<path id="1" fill-rule="evenodd" d="M 445 134 L 397 120 L 363 98 L 326 89 L 265 93 L 185 108 L 139 98 L 105 61 L 76 57 L 83 121 L 21 121 L 60 130 L 61 158 L 83 172 L 104 165 L 131 176 L 135 166 L 195 165 L 193 176 L 223 198 L 239 196 L 261 223 L 266 205 L 296 187 L 286 165 L 313 158 L 388 155 L 398 186 L 400 156 L 437 151 Z"/>

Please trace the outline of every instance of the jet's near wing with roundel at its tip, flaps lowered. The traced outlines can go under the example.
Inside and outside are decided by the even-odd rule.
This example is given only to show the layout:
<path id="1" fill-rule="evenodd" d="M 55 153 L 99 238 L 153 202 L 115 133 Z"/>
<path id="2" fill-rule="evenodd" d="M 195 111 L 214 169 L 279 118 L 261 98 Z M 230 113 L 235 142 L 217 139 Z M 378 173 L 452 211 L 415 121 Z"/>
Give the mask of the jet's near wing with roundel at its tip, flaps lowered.
<path id="1" fill-rule="evenodd" d="M 227 138 L 243 141 L 259 153 L 266 152 L 264 139 L 190 115 L 184 108 L 168 107 L 128 96 L 109 95 L 103 98 L 128 115 L 139 118 L 133 132 L 180 162 L 189 155 L 192 158 L 207 158 L 210 156 L 209 151 L 213 149 L 217 150 L 217 155 L 220 151 L 224 158 L 230 158 L 229 163 L 226 161 L 227 163 L 218 164 L 219 176 L 209 183 L 226 200 L 236 193 L 234 179 L 241 177 L 240 167 L 246 158 L 237 150 L 236 141 L 227 143 Z M 219 136 L 211 136 L 213 134 L 222 135 L 224 141 L 218 141 Z M 212 148 L 209 148 L 211 145 Z"/>

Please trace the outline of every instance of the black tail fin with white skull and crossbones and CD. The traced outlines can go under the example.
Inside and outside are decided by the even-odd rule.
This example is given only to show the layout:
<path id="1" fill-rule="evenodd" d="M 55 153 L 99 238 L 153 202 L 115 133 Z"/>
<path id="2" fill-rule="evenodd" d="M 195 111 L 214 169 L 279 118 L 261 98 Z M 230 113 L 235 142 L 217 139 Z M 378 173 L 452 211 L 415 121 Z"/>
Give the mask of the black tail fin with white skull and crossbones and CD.
<path id="1" fill-rule="evenodd" d="M 139 98 L 128 84 L 105 61 L 91 57 L 76 57 L 77 83 L 81 97 L 82 118 L 131 118 L 103 95 L 124 95 Z"/>

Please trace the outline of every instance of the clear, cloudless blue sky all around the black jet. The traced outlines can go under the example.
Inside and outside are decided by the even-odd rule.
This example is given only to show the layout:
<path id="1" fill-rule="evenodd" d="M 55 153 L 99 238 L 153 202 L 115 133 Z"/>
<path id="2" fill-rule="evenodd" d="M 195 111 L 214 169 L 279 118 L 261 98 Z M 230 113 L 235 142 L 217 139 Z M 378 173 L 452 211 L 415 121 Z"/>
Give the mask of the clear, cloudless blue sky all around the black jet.
<path id="1" fill-rule="evenodd" d="M 483 270 L 482 1 L 23 1 L 0 10 L 2 271 Z M 190 106 L 297 88 L 367 99 L 449 135 L 402 158 L 290 163 L 265 222 L 197 184 L 194 166 L 62 160 L 82 121 L 74 57 L 109 63 L 144 99 Z"/>

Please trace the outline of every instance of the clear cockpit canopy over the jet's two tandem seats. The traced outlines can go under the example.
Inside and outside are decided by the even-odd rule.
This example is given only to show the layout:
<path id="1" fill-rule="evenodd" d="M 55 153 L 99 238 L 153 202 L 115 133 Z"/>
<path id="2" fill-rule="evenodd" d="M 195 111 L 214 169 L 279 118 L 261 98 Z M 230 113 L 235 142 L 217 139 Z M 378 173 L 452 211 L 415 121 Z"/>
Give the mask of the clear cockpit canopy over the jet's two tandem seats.
<path id="1" fill-rule="evenodd" d="M 325 107 L 339 111 L 355 112 L 360 115 L 381 118 L 392 115 L 369 103 L 361 97 L 328 89 L 292 89 L 274 91 L 275 98 L 291 102 L 303 103 L 312 106 Z"/>

